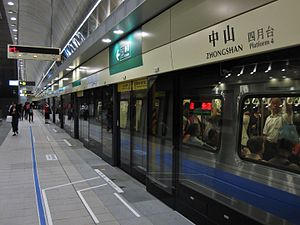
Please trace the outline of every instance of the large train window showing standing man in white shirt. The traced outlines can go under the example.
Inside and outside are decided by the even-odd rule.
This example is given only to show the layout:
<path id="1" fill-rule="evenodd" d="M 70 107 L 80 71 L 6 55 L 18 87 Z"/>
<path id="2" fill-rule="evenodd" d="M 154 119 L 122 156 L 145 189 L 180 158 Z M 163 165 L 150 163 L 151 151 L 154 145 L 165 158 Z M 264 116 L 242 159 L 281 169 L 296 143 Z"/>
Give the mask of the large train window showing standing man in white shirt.
<path id="1" fill-rule="evenodd" d="M 300 170 L 300 96 L 259 96 L 242 103 L 240 156 Z"/>

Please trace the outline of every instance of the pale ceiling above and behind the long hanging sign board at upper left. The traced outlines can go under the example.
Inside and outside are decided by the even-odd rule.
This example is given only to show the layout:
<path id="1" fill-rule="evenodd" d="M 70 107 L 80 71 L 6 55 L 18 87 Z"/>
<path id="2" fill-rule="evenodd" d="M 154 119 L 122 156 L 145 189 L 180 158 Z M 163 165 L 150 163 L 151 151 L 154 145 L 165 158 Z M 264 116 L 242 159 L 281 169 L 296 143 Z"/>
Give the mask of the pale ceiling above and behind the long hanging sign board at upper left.
<path id="1" fill-rule="evenodd" d="M 63 48 L 96 0 L 2 0 L 14 44 Z M 13 2 L 14 5 L 8 5 Z M 9 13 L 13 12 L 13 13 Z M 14 16 L 16 21 L 10 18 Z M 12 27 L 11 24 L 15 24 Z M 18 31 L 12 31 L 16 28 Z M 15 40 L 14 38 L 17 38 Z M 8 43 L 9 44 L 9 43 Z M 24 62 L 22 79 L 39 81 L 52 62 Z"/>

